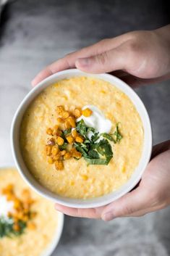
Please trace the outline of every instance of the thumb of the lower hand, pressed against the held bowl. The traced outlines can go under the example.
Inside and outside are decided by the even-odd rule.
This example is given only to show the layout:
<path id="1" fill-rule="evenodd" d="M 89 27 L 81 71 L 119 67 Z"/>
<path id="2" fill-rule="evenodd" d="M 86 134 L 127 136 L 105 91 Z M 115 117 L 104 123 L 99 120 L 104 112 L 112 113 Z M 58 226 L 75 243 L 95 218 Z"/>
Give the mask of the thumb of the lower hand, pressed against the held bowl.
<path id="1" fill-rule="evenodd" d="M 129 192 L 115 202 L 108 205 L 102 212 L 103 220 L 112 220 L 117 217 L 125 217 L 140 212 L 149 207 L 149 200 L 145 191 L 139 187 Z"/>

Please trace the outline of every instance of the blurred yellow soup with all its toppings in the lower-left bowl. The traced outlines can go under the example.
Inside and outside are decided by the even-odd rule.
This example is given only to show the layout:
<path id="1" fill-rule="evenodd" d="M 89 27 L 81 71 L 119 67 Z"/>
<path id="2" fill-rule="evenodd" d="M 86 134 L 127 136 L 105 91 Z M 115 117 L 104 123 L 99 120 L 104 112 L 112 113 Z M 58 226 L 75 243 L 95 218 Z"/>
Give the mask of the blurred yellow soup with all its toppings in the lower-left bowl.
<path id="1" fill-rule="evenodd" d="M 0 169 L 0 255 L 43 255 L 57 226 L 54 204 L 30 190 L 17 170 Z"/>

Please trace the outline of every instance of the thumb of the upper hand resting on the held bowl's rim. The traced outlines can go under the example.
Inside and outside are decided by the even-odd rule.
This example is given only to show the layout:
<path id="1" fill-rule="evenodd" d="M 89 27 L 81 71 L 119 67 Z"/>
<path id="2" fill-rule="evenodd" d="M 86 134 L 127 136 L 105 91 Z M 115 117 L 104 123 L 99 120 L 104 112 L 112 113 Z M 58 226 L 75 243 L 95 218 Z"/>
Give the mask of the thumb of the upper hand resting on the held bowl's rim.
<path id="1" fill-rule="evenodd" d="M 109 73 L 124 70 L 128 65 L 128 55 L 123 47 L 117 47 L 101 54 L 77 59 L 75 66 L 88 73 Z"/>

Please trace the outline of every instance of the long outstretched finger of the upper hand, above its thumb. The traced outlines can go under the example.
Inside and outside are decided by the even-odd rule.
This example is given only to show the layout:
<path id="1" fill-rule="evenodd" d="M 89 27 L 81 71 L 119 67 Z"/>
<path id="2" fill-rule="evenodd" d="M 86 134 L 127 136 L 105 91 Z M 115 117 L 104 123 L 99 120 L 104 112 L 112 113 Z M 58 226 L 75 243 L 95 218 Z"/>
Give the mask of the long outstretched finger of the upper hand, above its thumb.
<path id="1" fill-rule="evenodd" d="M 44 70 L 38 73 L 38 75 L 36 75 L 32 80 L 32 85 L 35 86 L 49 75 L 53 75 L 54 73 L 57 73 L 61 70 L 67 70 L 69 68 L 75 67 L 75 61 L 80 57 L 90 57 L 95 54 L 101 54 L 103 51 L 107 51 L 117 44 L 118 40 L 116 38 L 115 40 L 114 38 L 104 39 L 96 44 L 93 44 L 92 46 L 85 47 L 80 51 L 74 51 L 71 54 L 67 54 L 66 57 L 57 60 L 51 65 L 48 65 Z"/>

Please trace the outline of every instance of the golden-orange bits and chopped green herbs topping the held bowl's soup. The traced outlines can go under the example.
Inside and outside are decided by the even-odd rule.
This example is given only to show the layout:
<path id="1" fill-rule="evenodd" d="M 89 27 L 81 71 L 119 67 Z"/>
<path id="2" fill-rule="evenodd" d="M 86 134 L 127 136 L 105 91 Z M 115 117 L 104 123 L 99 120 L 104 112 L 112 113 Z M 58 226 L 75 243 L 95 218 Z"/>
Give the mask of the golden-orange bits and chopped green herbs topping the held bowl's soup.
<path id="1" fill-rule="evenodd" d="M 46 145 L 46 156 L 49 164 L 55 164 L 56 170 L 63 170 L 64 160 L 71 157 L 79 160 L 81 157 L 89 165 L 108 165 L 113 157 L 113 144 L 119 143 L 122 134 L 119 131 L 119 123 L 116 123 L 114 133 L 99 133 L 93 127 L 86 125 L 81 119 L 76 122 L 81 115 L 89 117 L 93 111 L 88 107 L 79 110 L 69 111 L 64 106 L 56 107 L 58 124 L 54 128 L 47 128 L 46 133 L 52 136 Z M 61 125 L 60 125 L 61 123 Z"/>

